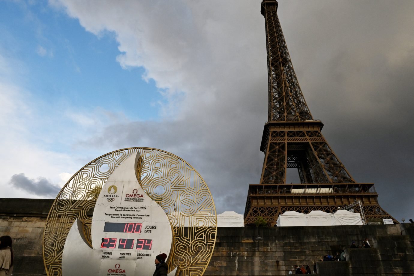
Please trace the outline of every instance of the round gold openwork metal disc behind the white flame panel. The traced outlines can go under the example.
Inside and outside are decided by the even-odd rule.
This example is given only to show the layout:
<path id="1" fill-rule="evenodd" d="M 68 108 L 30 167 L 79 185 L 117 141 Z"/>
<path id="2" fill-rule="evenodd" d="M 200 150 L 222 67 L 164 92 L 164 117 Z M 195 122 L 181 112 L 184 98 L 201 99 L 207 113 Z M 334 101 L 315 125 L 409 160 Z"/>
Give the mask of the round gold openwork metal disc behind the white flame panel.
<path id="1" fill-rule="evenodd" d="M 102 185 L 129 156 L 140 152 L 137 167 L 142 188 L 166 212 L 173 229 L 170 267 L 178 274 L 202 275 L 211 259 L 217 233 L 212 195 L 197 171 L 184 160 L 152 148 L 112 151 L 80 169 L 59 192 L 43 235 L 43 260 L 48 276 L 62 275 L 62 251 L 69 230 L 79 219 L 91 245 L 92 212 Z"/>

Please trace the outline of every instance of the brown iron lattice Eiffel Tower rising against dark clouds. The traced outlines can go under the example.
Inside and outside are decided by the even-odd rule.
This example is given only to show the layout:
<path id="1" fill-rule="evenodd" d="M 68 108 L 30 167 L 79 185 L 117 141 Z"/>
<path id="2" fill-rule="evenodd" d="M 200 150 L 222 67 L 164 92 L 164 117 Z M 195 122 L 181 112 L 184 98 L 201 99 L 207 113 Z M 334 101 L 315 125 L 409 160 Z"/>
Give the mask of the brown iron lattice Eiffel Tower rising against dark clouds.
<path id="1" fill-rule="evenodd" d="M 276 225 L 285 211 L 333 213 L 358 200 L 367 222 L 391 218 L 378 204 L 374 183 L 358 183 L 339 161 L 310 114 L 298 84 L 277 17 L 277 1 L 263 0 L 265 17 L 269 114 L 260 150 L 265 153 L 260 184 L 249 185 L 245 225 L 258 217 Z M 288 168 L 297 168 L 300 184 L 286 183 Z M 356 212 L 361 212 L 359 207 Z"/>

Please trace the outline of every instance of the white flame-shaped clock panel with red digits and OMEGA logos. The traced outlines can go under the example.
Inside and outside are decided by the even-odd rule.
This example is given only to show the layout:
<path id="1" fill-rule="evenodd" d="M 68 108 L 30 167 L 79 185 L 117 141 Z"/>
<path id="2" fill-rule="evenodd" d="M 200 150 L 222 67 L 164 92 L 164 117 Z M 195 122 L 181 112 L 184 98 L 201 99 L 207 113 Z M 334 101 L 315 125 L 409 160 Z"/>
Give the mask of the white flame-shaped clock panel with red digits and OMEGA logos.
<path id="1" fill-rule="evenodd" d="M 79 225 L 72 227 L 63 249 L 63 276 L 79 275 L 74 267 L 80 263 L 85 263 L 84 275 L 151 275 L 155 257 L 169 256 L 171 224 L 164 209 L 138 182 L 137 158 L 139 154 L 126 159 L 103 185 L 92 217 L 92 248 L 82 245 L 79 250 L 85 242 Z"/>

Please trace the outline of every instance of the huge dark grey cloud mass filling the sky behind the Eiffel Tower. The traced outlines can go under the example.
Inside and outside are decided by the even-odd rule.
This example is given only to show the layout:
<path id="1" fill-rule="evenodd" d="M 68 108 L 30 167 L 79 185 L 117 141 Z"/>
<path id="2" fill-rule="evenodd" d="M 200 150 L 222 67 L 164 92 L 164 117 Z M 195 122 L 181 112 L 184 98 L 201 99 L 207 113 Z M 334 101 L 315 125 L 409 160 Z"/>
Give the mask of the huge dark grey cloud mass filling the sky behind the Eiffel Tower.
<path id="1" fill-rule="evenodd" d="M 87 30 L 115 31 L 121 65 L 145 67 L 168 99 L 160 121 L 111 125 L 83 145 L 170 151 L 203 176 L 218 212 L 243 214 L 264 158 L 261 1 L 182 1 L 158 10 L 153 2 L 62 2 Z M 151 14 L 137 16 L 142 10 Z M 414 210 L 413 12 L 412 1 L 377 0 L 281 0 L 278 9 L 303 95 L 324 122 L 324 136 L 356 181 L 375 182 L 380 205 L 397 219 Z"/>

